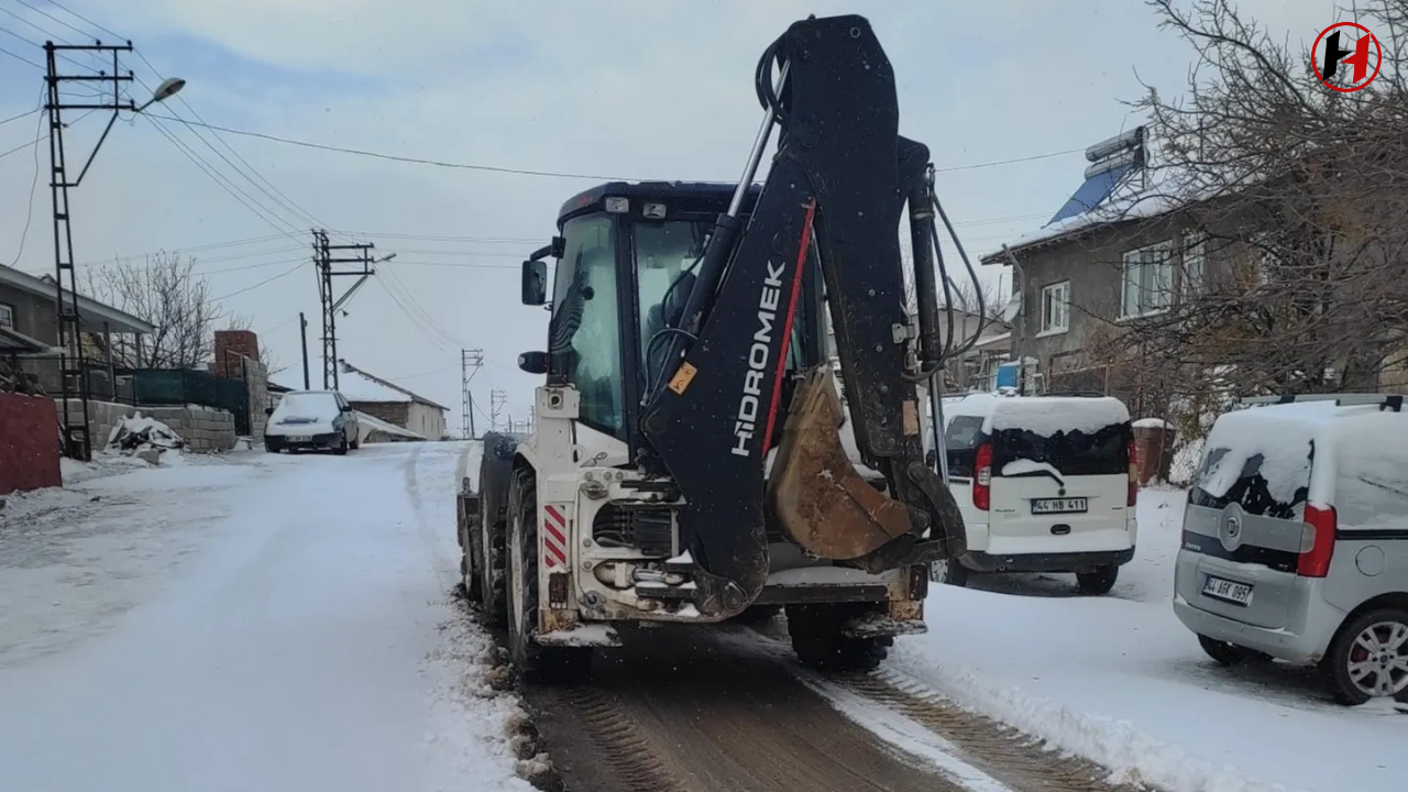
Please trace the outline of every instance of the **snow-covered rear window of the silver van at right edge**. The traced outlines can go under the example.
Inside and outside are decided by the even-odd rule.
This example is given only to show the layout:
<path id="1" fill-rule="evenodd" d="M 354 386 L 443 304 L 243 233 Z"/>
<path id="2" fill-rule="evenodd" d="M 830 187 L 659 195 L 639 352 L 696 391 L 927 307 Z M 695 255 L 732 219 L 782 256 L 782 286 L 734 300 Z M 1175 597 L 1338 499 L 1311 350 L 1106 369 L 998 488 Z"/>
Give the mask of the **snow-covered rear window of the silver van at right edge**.
<path id="1" fill-rule="evenodd" d="M 1312 441 L 1305 441 L 1304 452 L 1276 459 L 1262 451 L 1208 448 L 1188 502 L 1209 509 L 1238 503 L 1247 514 L 1300 520 L 1309 495 L 1314 448 Z"/>

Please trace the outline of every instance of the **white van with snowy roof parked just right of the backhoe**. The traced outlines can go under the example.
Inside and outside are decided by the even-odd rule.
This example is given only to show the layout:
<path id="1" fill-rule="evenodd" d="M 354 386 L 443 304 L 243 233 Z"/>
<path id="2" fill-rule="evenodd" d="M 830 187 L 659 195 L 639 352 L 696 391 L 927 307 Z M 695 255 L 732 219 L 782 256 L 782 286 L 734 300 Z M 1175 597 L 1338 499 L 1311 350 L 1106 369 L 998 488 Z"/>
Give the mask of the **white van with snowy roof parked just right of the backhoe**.
<path id="1" fill-rule="evenodd" d="M 1135 554 L 1139 490 L 1129 410 L 1110 396 L 997 396 L 943 403 L 949 486 L 963 513 L 957 554 L 936 582 L 967 572 L 1074 572 L 1102 595 Z"/>

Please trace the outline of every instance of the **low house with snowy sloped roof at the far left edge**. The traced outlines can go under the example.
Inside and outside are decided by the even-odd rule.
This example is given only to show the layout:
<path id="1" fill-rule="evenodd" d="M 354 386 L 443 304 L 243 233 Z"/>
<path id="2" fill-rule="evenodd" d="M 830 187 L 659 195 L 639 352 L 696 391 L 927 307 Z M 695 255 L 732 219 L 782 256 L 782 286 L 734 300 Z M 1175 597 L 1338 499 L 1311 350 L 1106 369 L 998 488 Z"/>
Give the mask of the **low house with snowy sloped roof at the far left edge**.
<path id="1" fill-rule="evenodd" d="M 0 265 L 0 355 L 18 361 L 18 368 L 34 375 L 49 395 L 59 388 L 59 318 L 58 289 L 49 276 L 37 278 L 27 272 Z M 65 295 L 69 299 L 69 295 Z M 90 392 L 94 397 L 113 396 L 110 361 L 101 349 L 114 344 L 141 344 L 144 335 L 156 328 L 128 313 L 79 296 L 79 330 L 101 338 L 99 344 L 84 344 L 89 365 Z M 117 337 L 114 340 L 114 337 Z"/>

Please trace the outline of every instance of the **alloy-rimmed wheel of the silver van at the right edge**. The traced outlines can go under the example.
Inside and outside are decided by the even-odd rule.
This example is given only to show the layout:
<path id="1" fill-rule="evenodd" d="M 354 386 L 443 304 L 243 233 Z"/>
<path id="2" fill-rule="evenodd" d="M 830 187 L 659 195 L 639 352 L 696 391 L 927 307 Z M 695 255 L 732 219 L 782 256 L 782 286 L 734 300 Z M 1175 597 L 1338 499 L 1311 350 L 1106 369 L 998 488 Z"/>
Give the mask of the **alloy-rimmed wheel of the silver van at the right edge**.
<path id="1" fill-rule="evenodd" d="M 1408 700 L 1408 610 L 1370 610 L 1346 623 L 1325 655 L 1331 692 L 1345 705 Z"/>

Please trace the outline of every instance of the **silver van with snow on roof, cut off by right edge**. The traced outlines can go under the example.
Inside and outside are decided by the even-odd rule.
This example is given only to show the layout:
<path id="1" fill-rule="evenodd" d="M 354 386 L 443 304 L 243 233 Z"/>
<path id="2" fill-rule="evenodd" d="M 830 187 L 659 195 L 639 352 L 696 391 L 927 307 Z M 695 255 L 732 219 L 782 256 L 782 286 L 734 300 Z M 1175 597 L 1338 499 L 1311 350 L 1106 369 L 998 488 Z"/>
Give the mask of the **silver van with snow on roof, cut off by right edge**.
<path id="1" fill-rule="evenodd" d="M 1224 665 L 1318 665 L 1343 703 L 1408 702 L 1402 396 L 1219 416 L 1183 514 L 1173 610 Z"/>

